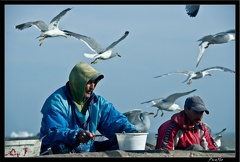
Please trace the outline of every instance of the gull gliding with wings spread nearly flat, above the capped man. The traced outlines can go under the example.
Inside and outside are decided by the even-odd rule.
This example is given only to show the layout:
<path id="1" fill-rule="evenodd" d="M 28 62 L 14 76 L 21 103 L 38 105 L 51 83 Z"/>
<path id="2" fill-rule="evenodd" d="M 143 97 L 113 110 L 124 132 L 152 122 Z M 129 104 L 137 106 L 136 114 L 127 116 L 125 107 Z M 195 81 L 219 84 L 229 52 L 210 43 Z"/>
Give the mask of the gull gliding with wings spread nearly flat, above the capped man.
<path id="1" fill-rule="evenodd" d="M 172 75 L 172 74 L 183 74 L 183 75 L 187 76 L 187 79 L 184 80 L 182 83 L 185 83 L 185 82 L 188 81 L 187 84 L 190 85 L 192 83 L 192 79 L 201 79 L 205 76 L 212 76 L 212 74 L 209 73 L 209 71 L 211 71 L 211 70 L 220 70 L 220 71 L 223 71 L 223 72 L 235 73 L 235 71 L 233 71 L 231 69 L 228 69 L 228 68 L 225 68 L 225 67 L 222 67 L 222 66 L 214 66 L 214 67 L 209 67 L 209 68 L 197 71 L 197 72 L 189 71 L 189 70 L 178 70 L 178 71 L 158 75 L 158 76 L 155 76 L 154 78 L 159 78 L 159 77 Z"/>

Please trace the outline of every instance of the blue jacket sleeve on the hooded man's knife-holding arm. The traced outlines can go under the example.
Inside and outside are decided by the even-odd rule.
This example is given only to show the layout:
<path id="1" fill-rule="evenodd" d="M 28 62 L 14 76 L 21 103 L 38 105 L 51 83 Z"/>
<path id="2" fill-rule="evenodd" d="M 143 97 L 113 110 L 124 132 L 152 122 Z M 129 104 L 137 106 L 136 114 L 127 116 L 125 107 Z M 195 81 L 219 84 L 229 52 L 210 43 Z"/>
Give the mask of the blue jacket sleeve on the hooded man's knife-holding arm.
<path id="1" fill-rule="evenodd" d="M 74 123 L 71 106 L 64 95 L 53 95 L 48 98 L 42 108 L 43 118 L 40 137 L 42 145 L 67 143 L 78 146 L 76 136 L 81 128 Z"/>

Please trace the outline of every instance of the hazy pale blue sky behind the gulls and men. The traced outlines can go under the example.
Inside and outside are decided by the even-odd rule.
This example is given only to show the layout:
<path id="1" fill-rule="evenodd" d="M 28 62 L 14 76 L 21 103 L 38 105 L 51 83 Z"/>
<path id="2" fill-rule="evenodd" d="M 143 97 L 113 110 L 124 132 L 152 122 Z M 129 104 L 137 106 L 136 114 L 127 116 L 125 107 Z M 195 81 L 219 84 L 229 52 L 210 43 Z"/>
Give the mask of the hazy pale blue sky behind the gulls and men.
<path id="1" fill-rule="evenodd" d="M 197 91 L 210 111 L 204 114 L 213 132 L 227 128 L 235 132 L 235 74 L 211 71 L 211 77 L 182 83 L 184 75 L 153 78 L 175 70 L 195 70 L 199 52 L 197 40 L 208 34 L 235 29 L 234 5 L 201 5 L 196 17 L 189 17 L 185 5 L 6 5 L 5 6 L 5 137 L 12 132 L 37 134 L 41 107 L 46 98 L 66 84 L 73 66 L 93 60 L 83 53 L 92 51 L 72 37 L 47 38 L 42 46 L 35 27 L 23 31 L 15 25 L 43 20 L 47 24 L 66 8 L 59 27 L 93 37 L 106 48 L 125 31 L 129 35 L 114 50 L 122 57 L 92 65 L 104 74 L 95 89 L 120 112 L 131 109 L 157 112 L 141 102 L 167 97 L 172 93 Z M 235 42 L 210 45 L 197 70 L 224 66 L 235 70 Z M 190 96 L 188 95 L 188 96 Z M 181 108 L 188 96 L 176 103 Z M 176 113 L 164 111 L 163 117 L 150 116 L 149 132 Z"/>

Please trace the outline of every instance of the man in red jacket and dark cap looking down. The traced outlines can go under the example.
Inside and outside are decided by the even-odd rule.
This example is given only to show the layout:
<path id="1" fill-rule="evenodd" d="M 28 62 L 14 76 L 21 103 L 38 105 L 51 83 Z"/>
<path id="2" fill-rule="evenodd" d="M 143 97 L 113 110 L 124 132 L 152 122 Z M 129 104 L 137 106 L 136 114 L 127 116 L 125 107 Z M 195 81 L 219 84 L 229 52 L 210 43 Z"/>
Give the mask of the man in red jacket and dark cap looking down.
<path id="1" fill-rule="evenodd" d="M 184 110 L 174 114 L 158 129 L 157 150 L 217 150 L 207 128 L 201 122 L 209 114 L 199 96 L 188 97 Z"/>

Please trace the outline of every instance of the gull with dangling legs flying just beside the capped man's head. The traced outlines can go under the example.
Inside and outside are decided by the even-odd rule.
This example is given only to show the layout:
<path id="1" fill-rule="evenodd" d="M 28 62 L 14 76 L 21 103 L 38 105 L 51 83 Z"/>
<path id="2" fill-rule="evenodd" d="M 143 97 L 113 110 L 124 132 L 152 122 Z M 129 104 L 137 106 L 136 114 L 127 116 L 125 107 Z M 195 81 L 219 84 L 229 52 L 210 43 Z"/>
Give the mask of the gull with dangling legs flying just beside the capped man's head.
<path id="1" fill-rule="evenodd" d="M 190 94 L 190 93 L 192 93 L 192 92 L 194 92 L 196 90 L 197 89 L 194 89 L 194 90 L 188 91 L 188 92 L 183 92 L 183 93 L 174 93 L 174 94 L 168 96 L 167 98 L 157 98 L 157 99 L 153 99 L 153 100 L 142 102 L 141 104 L 152 102 L 152 105 L 151 106 L 147 106 L 147 107 L 157 107 L 158 108 L 157 114 L 154 116 L 154 118 L 158 115 L 158 111 L 159 110 L 162 111 L 161 116 L 163 116 L 163 110 L 165 110 L 165 111 L 175 111 L 175 110 L 182 111 L 180 106 L 177 105 L 175 103 L 175 101 L 178 98 L 180 98 L 182 96 L 185 96 L 185 95 L 188 95 L 188 94 Z"/>

